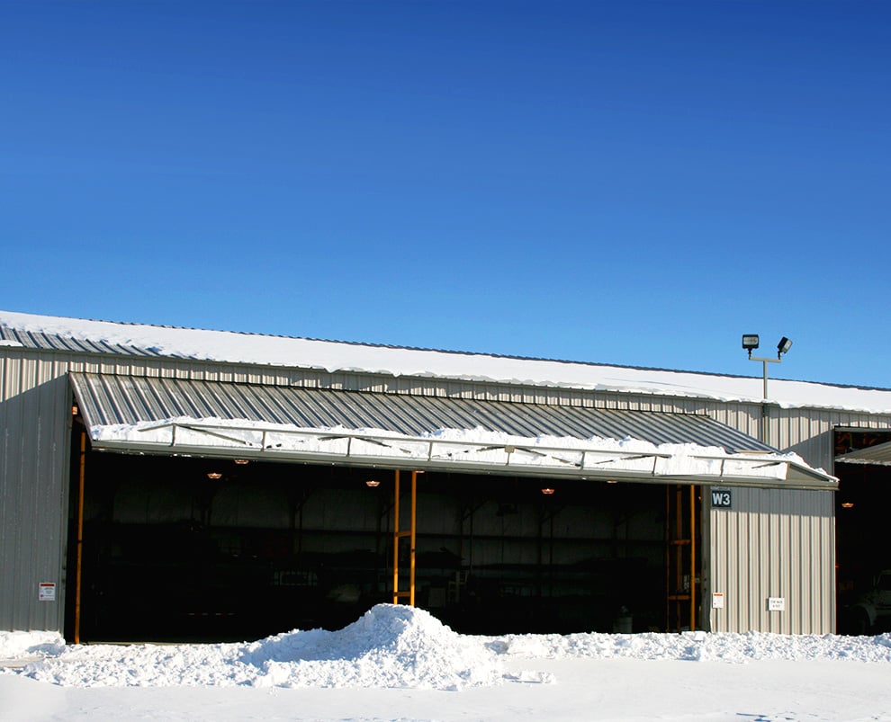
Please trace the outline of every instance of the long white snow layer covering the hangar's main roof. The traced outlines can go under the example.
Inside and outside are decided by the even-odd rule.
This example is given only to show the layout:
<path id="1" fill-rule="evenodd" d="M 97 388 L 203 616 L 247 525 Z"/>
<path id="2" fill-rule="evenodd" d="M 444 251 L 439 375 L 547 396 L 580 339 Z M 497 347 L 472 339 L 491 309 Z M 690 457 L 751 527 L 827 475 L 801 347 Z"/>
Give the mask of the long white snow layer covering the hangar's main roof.
<path id="1" fill-rule="evenodd" d="M 329 372 L 355 371 L 388 376 L 487 381 L 755 403 L 761 402 L 763 391 L 762 379 L 754 377 L 122 324 L 0 311 L 0 336 L 4 337 L 5 346 L 38 345 L 33 340 L 33 334 L 92 344 L 99 351 L 116 349 L 138 355 Z M 891 389 L 772 379 L 770 402 L 786 408 L 832 408 L 891 414 Z"/>

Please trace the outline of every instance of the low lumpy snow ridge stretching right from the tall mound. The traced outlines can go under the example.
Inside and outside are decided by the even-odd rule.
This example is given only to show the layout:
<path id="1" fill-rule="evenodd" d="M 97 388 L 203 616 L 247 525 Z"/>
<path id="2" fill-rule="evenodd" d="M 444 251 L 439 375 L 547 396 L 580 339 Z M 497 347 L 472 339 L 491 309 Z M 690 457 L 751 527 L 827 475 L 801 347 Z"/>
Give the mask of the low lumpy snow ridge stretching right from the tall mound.
<path id="1" fill-rule="evenodd" d="M 571 634 L 491 637 L 500 655 L 523 659 L 671 659 L 746 663 L 753 660 L 849 660 L 891 663 L 891 634 L 878 637 L 781 635 L 768 632 L 734 634 Z"/>

